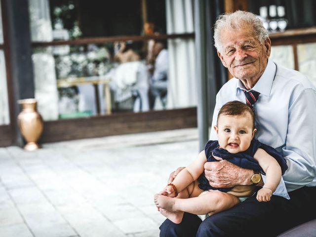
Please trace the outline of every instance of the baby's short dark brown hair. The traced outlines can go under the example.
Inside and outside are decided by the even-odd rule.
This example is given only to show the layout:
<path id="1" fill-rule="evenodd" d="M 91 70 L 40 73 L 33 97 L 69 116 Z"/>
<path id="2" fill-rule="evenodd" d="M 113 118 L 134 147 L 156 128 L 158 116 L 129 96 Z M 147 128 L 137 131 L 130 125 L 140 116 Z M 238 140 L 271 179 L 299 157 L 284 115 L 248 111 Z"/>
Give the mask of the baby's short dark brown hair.
<path id="1" fill-rule="evenodd" d="M 227 102 L 225 105 L 222 106 L 222 108 L 218 112 L 217 123 L 220 115 L 244 115 L 247 112 L 252 118 L 252 128 L 254 128 L 255 114 L 253 113 L 252 109 L 248 105 L 237 100 Z"/>

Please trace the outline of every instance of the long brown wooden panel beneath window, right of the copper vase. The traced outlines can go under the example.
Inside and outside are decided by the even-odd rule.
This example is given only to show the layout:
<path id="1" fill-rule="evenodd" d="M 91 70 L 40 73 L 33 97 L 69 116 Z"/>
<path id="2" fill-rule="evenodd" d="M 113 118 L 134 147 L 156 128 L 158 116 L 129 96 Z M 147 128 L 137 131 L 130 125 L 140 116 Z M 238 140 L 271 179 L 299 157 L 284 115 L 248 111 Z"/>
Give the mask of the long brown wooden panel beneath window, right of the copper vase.
<path id="1" fill-rule="evenodd" d="M 197 127 L 197 108 L 44 122 L 40 143 Z"/>

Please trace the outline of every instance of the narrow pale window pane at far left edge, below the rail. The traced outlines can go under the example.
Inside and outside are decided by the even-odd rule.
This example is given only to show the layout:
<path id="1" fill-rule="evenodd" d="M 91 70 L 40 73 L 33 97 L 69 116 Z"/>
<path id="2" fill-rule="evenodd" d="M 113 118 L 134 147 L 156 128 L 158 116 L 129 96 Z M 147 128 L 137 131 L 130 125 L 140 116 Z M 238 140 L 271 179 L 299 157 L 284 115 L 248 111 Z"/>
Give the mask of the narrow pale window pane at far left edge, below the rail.
<path id="1" fill-rule="evenodd" d="M 0 125 L 9 124 L 9 103 L 3 50 L 0 50 Z"/>

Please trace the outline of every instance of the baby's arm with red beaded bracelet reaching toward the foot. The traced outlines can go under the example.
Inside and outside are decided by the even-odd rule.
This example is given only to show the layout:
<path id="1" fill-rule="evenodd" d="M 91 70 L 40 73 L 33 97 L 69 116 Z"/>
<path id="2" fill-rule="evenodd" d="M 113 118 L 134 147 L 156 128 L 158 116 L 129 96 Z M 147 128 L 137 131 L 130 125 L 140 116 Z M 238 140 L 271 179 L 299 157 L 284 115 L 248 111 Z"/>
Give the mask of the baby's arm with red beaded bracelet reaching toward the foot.
<path id="1" fill-rule="evenodd" d="M 176 191 L 180 193 L 185 188 L 187 188 L 192 182 L 197 180 L 201 173 L 204 171 L 204 164 L 207 161 L 205 152 L 201 151 L 197 159 L 185 167 L 183 170 L 179 172 L 179 174 L 174 178 L 172 184 L 176 187 L 177 190 L 174 189 L 172 185 L 166 186 L 160 194 L 175 197 Z"/>

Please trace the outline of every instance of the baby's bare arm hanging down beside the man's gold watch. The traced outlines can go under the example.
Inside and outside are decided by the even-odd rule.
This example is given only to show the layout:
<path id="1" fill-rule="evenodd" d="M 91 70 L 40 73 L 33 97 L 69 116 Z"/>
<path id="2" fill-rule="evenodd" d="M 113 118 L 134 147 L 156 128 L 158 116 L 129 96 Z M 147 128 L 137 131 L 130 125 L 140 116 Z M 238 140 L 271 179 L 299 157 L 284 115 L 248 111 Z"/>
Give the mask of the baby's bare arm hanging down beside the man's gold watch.
<path id="1" fill-rule="evenodd" d="M 258 161 L 261 168 L 266 172 L 266 181 L 262 189 L 258 191 L 258 201 L 270 201 L 273 192 L 280 183 L 282 172 L 281 167 L 275 158 L 270 156 L 266 151 L 259 148 L 254 158 Z"/>

